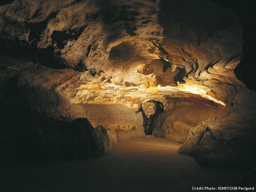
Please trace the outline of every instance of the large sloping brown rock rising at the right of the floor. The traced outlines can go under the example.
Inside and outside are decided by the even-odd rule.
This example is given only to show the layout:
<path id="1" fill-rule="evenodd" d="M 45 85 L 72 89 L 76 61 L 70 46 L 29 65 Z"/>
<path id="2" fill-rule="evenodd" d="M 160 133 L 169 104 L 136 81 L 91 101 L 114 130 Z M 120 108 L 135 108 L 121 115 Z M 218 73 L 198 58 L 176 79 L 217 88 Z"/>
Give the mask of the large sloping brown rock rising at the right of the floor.
<path id="1" fill-rule="evenodd" d="M 203 166 L 255 163 L 254 91 L 244 88 L 217 117 L 193 127 L 179 153 L 194 156 Z"/>

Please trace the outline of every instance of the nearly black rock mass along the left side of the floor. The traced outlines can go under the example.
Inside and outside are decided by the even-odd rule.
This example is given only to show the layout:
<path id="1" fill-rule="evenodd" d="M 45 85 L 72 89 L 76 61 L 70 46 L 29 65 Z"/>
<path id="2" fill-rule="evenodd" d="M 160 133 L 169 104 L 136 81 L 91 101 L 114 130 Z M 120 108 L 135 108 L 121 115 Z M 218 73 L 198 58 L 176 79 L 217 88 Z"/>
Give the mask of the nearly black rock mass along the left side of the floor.
<path id="1" fill-rule="evenodd" d="M 1 166 L 100 157 L 110 150 L 107 130 L 85 118 L 65 123 L 25 108 L 2 107 Z"/>

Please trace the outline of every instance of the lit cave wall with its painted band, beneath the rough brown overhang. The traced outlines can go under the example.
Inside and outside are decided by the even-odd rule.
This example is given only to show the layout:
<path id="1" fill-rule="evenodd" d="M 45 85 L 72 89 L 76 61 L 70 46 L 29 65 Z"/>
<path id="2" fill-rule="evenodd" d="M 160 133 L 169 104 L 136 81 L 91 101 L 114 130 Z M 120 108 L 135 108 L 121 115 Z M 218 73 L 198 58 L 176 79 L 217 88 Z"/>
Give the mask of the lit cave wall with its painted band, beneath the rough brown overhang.
<path id="1" fill-rule="evenodd" d="M 161 125 L 165 119 L 195 126 L 225 105 L 207 100 L 208 95 L 204 94 L 207 91 L 203 89 L 194 88 L 190 90 L 192 94 L 183 84 L 177 88 L 122 87 L 95 83 L 90 77 L 86 79 L 84 73 L 71 69 L 51 69 L 8 57 L 1 60 L 3 103 L 26 106 L 63 121 L 87 118 L 94 127 L 106 127 L 112 143 L 145 135 L 143 126 L 148 123 L 143 123 L 140 109 L 148 100 L 155 102 L 160 110 L 155 118 L 157 122 L 152 122 L 158 125 L 154 135 L 159 137 L 164 135 L 165 127 L 162 130 Z"/>

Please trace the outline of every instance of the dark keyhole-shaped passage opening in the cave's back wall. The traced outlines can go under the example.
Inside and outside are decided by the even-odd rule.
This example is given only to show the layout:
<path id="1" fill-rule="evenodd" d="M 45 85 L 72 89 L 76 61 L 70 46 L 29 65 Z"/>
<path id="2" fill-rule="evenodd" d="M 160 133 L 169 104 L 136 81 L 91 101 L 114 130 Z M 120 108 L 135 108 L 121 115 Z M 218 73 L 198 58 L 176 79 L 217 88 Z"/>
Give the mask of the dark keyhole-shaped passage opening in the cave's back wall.
<path id="1" fill-rule="evenodd" d="M 163 113 L 163 108 L 163 104 L 155 100 L 150 100 L 139 105 L 138 112 L 142 112 L 143 127 L 146 135 L 159 137 L 162 125 L 160 114 Z"/>

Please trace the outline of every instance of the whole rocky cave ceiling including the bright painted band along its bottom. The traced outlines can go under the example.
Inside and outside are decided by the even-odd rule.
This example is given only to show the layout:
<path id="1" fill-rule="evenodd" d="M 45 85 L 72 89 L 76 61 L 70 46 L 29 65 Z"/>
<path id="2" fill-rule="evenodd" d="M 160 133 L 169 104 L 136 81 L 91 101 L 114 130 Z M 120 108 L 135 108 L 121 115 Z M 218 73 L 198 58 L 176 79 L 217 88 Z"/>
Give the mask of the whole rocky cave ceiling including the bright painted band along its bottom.
<path id="1" fill-rule="evenodd" d="M 0 32 L 2 53 L 28 62 L 2 58 L 7 79 L 75 104 L 224 108 L 243 86 L 243 26 L 210 1 L 15 0 L 0 6 Z"/>

